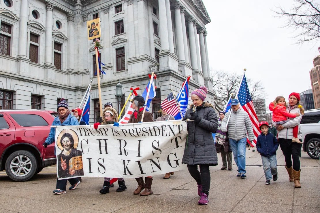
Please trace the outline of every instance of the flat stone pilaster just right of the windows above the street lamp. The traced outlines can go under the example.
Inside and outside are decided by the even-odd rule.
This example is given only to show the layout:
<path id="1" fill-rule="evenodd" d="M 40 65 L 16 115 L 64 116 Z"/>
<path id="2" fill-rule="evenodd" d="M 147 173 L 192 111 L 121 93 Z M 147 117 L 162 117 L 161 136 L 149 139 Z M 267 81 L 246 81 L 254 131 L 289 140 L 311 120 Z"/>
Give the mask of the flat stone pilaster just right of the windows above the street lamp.
<path id="1" fill-rule="evenodd" d="M 127 11 L 128 11 L 128 46 L 129 54 L 128 54 L 128 60 L 132 58 L 136 58 L 136 45 L 134 41 L 134 32 L 135 32 L 135 26 L 134 26 L 134 16 L 133 16 L 133 1 L 127 0 Z M 108 40 L 107 40 L 108 41 Z"/>

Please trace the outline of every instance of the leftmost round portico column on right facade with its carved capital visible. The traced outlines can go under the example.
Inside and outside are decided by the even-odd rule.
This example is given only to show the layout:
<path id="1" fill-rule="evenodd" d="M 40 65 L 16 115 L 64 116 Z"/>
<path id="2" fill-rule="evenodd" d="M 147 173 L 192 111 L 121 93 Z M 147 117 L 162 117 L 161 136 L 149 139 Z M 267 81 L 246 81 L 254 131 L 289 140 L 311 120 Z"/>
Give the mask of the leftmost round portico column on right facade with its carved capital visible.
<path id="1" fill-rule="evenodd" d="M 180 7 L 181 7 L 180 2 L 174 5 L 174 17 L 176 20 L 177 50 L 178 50 L 178 58 L 179 58 L 178 61 L 185 61 Z"/>

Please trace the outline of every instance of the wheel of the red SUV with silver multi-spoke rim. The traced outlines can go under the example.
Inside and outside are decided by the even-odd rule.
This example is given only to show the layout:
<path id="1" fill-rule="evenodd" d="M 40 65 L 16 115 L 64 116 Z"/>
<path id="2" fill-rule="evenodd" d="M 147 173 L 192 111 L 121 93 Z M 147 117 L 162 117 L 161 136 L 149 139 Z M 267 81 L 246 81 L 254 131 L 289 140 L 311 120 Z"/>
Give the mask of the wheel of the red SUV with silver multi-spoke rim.
<path id="1" fill-rule="evenodd" d="M 36 157 L 27 150 L 13 152 L 5 162 L 5 171 L 14 181 L 27 181 L 38 170 Z"/>

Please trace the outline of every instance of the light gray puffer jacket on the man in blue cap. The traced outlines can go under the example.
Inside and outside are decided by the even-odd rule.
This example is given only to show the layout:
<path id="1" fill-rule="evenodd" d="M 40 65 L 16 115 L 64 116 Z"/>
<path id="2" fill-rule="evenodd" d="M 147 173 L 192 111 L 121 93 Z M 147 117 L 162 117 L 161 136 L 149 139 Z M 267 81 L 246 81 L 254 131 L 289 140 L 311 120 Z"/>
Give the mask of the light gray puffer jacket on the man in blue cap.
<path id="1" fill-rule="evenodd" d="M 229 119 L 227 130 L 226 124 L 229 116 L 231 117 Z M 238 109 L 236 111 L 233 111 L 231 109 L 230 111 L 228 111 L 221 122 L 221 131 L 228 131 L 229 138 L 236 141 L 246 138 L 247 133 L 249 135 L 249 141 L 254 140 L 252 123 L 248 113 L 246 113 L 244 110 Z"/>

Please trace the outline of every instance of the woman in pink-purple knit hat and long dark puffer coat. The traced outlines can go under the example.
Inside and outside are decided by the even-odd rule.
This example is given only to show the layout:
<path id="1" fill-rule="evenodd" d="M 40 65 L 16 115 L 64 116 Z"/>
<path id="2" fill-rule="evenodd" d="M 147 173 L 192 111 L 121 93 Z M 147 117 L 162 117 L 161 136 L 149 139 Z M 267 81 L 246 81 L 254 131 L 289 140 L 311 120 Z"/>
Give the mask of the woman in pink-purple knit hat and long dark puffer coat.
<path id="1" fill-rule="evenodd" d="M 209 166 L 218 165 L 218 156 L 212 133 L 218 128 L 218 118 L 212 104 L 204 102 L 208 89 L 200 87 L 191 93 L 193 104 L 187 110 L 183 120 L 187 120 L 187 141 L 182 164 L 188 165 L 190 175 L 198 185 L 198 204 L 209 202 L 210 171 Z M 198 170 L 198 165 L 200 172 Z"/>

